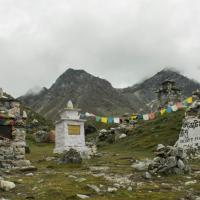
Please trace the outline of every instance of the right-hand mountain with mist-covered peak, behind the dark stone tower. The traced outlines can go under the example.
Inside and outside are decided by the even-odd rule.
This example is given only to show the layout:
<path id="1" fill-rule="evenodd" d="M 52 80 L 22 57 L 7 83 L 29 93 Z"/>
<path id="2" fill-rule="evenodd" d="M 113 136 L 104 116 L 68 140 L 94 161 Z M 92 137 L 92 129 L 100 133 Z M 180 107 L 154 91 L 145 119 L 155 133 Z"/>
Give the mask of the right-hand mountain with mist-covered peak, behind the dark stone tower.
<path id="1" fill-rule="evenodd" d="M 200 83 L 183 76 L 173 69 L 163 69 L 151 78 L 143 82 L 121 90 L 121 95 L 129 101 L 131 106 L 137 105 L 137 110 L 150 111 L 157 99 L 155 91 L 158 90 L 164 80 L 171 79 L 181 89 L 182 97 L 188 97 L 192 91 L 200 88 Z"/>

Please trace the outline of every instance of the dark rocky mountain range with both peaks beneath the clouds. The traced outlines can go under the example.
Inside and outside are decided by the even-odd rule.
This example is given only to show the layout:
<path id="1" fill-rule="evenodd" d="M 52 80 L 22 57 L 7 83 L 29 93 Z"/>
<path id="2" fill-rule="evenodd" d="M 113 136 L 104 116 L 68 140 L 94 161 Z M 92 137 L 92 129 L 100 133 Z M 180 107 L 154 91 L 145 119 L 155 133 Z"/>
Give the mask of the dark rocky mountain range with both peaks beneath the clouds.
<path id="1" fill-rule="evenodd" d="M 160 84 L 172 79 L 182 90 L 184 97 L 200 88 L 200 84 L 177 71 L 164 69 L 142 83 L 124 89 L 114 88 L 110 82 L 95 77 L 84 70 L 66 70 L 49 88 L 39 93 L 28 93 L 19 99 L 34 111 L 46 118 L 55 120 L 68 100 L 83 112 L 96 115 L 122 115 L 126 112 L 150 111 L 150 105 L 156 101 L 155 91 Z"/>

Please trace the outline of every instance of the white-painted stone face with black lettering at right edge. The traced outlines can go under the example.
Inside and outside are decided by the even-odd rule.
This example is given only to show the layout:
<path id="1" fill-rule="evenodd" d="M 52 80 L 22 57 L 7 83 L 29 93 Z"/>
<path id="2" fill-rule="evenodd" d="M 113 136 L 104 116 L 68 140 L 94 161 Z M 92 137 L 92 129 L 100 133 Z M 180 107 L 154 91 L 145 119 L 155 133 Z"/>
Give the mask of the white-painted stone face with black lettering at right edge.
<path id="1" fill-rule="evenodd" d="M 200 119 L 194 117 L 184 121 L 176 145 L 185 149 L 200 146 Z"/>

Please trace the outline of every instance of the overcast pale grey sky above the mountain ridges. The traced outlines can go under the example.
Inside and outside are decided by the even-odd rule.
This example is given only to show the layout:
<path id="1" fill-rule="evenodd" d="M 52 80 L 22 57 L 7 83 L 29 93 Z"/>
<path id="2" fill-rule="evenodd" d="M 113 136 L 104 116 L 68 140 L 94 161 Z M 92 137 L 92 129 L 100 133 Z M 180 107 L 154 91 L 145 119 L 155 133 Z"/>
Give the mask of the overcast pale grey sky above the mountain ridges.
<path id="1" fill-rule="evenodd" d="M 0 0 L 0 87 L 17 97 L 69 67 L 114 87 L 165 67 L 200 80 L 200 1 Z"/>

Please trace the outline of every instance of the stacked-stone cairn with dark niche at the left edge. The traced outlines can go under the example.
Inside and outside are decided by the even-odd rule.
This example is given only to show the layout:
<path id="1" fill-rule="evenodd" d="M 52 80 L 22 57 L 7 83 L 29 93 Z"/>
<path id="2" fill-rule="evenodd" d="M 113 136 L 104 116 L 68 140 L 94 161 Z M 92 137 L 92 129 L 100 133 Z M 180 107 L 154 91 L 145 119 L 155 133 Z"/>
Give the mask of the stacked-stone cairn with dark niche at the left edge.
<path id="1" fill-rule="evenodd" d="M 30 166 L 25 160 L 25 119 L 18 100 L 4 96 L 0 88 L 0 168 Z"/>

